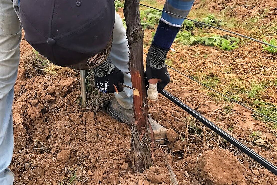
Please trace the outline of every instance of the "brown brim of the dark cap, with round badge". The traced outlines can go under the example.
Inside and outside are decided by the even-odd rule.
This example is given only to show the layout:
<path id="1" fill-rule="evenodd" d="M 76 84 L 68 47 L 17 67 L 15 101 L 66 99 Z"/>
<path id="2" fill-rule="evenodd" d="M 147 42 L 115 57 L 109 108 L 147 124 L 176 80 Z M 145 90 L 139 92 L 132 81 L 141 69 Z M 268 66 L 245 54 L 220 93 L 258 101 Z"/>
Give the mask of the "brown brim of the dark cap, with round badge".
<path id="1" fill-rule="evenodd" d="M 94 68 L 107 60 L 108 56 L 110 55 L 111 49 L 112 49 L 112 35 L 103 50 L 101 50 L 100 52 L 94 54 L 89 58 L 86 58 L 80 61 L 79 63 L 68 65 L 67 67 L 70 67 L 72 69 L 79 69 L 79 70 Z"/>

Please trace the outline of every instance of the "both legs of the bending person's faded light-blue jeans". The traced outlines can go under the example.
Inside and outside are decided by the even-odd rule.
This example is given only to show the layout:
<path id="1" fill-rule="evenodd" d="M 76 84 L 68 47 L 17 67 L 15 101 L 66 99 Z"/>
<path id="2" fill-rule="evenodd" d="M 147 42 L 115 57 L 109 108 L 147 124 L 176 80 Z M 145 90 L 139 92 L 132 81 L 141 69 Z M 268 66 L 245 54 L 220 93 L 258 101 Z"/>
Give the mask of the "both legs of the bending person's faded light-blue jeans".
<path id="1" fill-rule="evenodd" d="M 131 86 L 128 42 L 125 34 L 122 20 L 116 14 L 110 58 L 112 63 L 124 73 L 124 83 Z M 12 185 L 14 179 L 8 166 L 13 152 L 12 101 L 19 65 L 20 41 L 20 21 L 12 1 L 0 0 L 0 185 Z M 131 109 L 132 93 L 132 90 L 124 88 L 115 96 L 120 105 Z"/>

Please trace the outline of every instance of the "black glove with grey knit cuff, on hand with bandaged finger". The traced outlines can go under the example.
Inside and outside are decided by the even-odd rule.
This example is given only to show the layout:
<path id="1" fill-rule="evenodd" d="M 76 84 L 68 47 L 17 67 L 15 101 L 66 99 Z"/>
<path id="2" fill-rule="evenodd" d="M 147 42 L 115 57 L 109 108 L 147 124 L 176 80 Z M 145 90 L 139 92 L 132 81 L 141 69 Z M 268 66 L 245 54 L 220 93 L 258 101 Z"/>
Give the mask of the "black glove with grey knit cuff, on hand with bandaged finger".
<path id="1" fill-rule="evenodd" d="M 160 49 L 153 43 L 146 57 L 146 79 L 158 78 L 157 90 L 160 93 L 170 82 L 170 75 L 165 65 L 168 50 Z M 151 82 L 150 82 L 151 83 Z"/>

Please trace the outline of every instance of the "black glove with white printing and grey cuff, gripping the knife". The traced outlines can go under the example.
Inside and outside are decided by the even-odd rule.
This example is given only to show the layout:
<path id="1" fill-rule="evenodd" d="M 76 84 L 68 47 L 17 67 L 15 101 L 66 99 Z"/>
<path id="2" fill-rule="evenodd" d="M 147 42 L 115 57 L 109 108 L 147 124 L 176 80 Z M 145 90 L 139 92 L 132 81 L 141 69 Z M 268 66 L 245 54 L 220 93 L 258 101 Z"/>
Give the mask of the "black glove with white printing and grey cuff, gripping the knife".
<path id="1" fill-rule="evenodd" d="M 123 73 L 116 66 L 114 66 L 108 58 L 105 62 L 94 67 L 94 84 L 102 93 L 114 93 L 116 92 L 114 85 L 118 92 L 123 90 L 118 83 L 123 83 Z"/>

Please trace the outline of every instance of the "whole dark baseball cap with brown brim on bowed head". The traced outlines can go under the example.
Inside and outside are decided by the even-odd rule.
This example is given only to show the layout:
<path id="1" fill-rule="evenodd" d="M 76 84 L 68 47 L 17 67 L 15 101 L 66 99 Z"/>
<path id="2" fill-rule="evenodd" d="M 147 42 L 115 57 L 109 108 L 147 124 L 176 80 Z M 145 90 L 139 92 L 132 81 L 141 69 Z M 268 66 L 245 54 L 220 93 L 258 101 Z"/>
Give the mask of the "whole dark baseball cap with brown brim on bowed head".
<path id="1" fill-rule="evenodd" d="M 89 69 L 112 47 L 114 0 L 20 0 L 25 39 L 53 64 Z"/>

